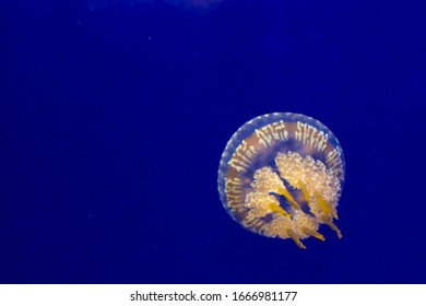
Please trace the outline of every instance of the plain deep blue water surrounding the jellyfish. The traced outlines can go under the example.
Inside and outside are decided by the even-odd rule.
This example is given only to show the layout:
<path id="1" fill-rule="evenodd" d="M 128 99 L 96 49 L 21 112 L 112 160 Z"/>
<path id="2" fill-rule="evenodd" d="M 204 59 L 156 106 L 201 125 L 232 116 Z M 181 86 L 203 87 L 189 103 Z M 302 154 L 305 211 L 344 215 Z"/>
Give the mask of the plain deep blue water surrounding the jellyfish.
<path id="1" fill-rule="evenodd" d="M 424 8 L 204 2 L 1 1 L 0 282 L 425 283 Z M 272 111 L 340 140 L 341 240 L 223 209 L 226 142 Z"/>

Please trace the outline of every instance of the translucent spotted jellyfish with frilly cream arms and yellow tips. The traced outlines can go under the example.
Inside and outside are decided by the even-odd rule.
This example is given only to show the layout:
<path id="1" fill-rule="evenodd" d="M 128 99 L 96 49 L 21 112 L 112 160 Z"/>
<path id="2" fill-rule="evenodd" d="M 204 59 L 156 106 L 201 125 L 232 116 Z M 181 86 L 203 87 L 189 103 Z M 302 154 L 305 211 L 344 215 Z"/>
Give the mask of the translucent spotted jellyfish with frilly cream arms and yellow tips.
<path id="1" fill-rule="evenodd" d="M 218 168 L 218 192 L 228 214 L 267 237 L 316 237 L 321 224 L 341 238 L 338 219 L 345 176 L 338 139 L 300 114 L 273 113 L 246 122 L 228 141 Z"/>

